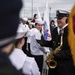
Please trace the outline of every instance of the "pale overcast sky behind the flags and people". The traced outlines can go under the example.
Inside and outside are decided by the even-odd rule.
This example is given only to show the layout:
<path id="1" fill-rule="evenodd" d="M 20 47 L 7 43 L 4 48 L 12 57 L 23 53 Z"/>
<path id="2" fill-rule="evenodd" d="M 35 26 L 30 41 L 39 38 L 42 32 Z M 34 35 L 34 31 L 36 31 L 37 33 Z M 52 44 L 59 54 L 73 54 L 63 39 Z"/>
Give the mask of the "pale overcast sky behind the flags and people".
<path id="1" fill-rule="evenodd" d="M 37 7 L 39 8 L 41 15 L 43 15 L 46 1 L 47 0 L 23 0 L 23 8 L 20 16 L 32 18 L 33 15 L 37 13 Z M 48 0 L 51 17 L 55 17 L 56 10 L 70 11 L 74 4 L 75 0 Z"/>

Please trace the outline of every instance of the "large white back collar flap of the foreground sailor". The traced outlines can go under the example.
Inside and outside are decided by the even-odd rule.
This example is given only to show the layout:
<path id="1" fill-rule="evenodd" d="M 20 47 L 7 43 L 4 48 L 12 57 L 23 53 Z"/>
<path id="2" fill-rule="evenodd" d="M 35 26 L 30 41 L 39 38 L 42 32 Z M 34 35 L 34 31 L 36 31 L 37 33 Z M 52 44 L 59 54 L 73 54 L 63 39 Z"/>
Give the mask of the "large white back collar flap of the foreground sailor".
<path id="1" fill-rule="evenodd" d="M 23 67 L 27 55 L 21 49 L 15 48 L 9 56 L 12 64 L 19 70 Z"/>

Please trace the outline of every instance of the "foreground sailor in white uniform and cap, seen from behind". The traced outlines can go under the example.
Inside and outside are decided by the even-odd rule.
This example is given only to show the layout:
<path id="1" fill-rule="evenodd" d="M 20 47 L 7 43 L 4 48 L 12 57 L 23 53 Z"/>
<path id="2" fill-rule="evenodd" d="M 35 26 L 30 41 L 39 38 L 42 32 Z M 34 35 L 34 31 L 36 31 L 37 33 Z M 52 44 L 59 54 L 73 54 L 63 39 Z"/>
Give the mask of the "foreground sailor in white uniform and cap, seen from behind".
<path id="1" fill-rule="evenodd" d="M 40 75 L 39 68 L 33 57 L 28 57 L 23 51 L 25 30 L 23 25 L 20 25 L 17 31 L 15 49 L 9 56 L 12 64 L 25 75 Z"/>

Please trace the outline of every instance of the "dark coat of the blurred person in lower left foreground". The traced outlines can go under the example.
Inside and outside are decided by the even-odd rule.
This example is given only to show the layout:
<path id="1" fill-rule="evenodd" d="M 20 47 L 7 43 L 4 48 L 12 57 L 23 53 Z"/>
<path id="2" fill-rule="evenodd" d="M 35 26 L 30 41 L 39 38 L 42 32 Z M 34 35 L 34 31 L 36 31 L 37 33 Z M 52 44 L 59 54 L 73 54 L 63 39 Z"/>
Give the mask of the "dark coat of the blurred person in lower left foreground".
<path id="1" fill-rule="evenodd" d="M 0 75 L 23 75 L 12 66 L 8 55 L 0 51 Z"/>

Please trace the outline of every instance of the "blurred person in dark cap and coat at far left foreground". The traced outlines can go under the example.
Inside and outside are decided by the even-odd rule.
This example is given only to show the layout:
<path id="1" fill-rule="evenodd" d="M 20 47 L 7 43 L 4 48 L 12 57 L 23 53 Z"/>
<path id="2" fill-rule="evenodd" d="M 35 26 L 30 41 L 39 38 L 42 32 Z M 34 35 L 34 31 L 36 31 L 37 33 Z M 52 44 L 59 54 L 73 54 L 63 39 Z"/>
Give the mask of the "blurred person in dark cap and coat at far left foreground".
<path id="1" fill-rule="evenodd" d="M 21 0 L 0 0 L 0 75 L 23 75 L 8 58 L 14 48 L 21 7 Z"/>

